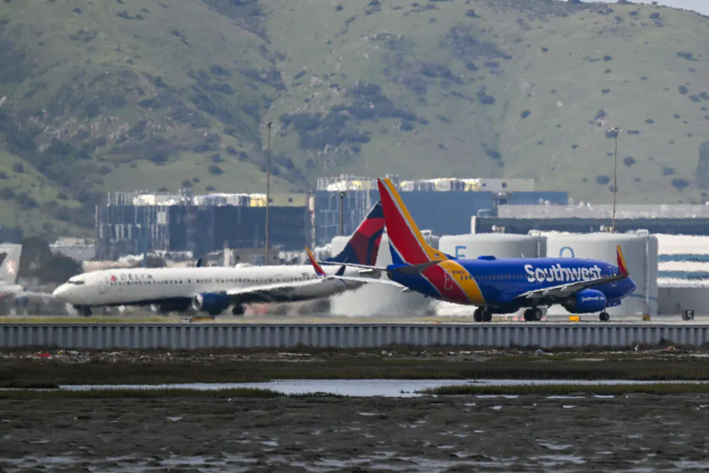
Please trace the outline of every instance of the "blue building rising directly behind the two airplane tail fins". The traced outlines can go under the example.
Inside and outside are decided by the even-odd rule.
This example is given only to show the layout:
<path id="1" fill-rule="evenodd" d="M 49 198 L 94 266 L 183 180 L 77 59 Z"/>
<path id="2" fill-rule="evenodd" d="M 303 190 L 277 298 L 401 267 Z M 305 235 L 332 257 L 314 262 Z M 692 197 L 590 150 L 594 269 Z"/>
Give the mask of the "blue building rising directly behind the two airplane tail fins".
<path id="1" fill-rule="evenodd" d="M 535 191 L 534 179 L 419 179 L 402 180 L 389 176 L 411 210 L 420 228 L 436 235 L 457 235 L 469 232 L 471 215 L 495 213 L 498 206 L 513 204 L 566 205 L 569 193 Z M 350 235 L 369 208 L 379 200 L 376 179 L 340 176 L 320 178 L 314 197 L 315 242 L 330 243 L 340 235 L 340 205 L 342 234 Z"/>

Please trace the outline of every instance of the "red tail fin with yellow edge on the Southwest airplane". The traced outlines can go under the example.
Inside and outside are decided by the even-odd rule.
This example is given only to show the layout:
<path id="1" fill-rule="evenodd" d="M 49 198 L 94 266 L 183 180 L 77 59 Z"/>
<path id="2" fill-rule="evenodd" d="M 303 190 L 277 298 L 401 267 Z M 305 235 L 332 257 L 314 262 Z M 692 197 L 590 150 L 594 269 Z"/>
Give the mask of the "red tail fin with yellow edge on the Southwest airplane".
<path id="1" fill-rule="evenodd" d="M 390 179 L 379 179 L 379 198 L 384 207 L 384 224 L 389 236 L 391 261 L 395 265 L 420 265 L 426 262 L 449 260 L 444 252 L 426 243 L 411 213 Z"/>

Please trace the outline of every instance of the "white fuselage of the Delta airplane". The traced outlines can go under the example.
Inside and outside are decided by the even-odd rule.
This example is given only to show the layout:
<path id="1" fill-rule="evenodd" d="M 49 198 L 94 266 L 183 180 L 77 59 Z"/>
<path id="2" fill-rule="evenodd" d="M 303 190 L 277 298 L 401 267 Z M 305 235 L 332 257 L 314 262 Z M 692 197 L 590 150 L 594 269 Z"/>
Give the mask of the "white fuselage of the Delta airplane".
<path id="1" fill-rule="evenodd" d="M 328 265 L 325 271 L 334 274 L 338 268 L 336 265 Z M 357 274 L 357 269 L 347 268 L 345 274 Z M 322 281 L 294 287 L 292 300 L 333 296 L 362 285 L 350 282 L 345 285 L 337 279 L 323 279 L 309 265 L 105 269 L 72 277 L 57 287 L 54 296 L 74 306 L 159 304 L 169 299 L 192 298 L 200 293 L 303 282 L 308 279 Z"/>

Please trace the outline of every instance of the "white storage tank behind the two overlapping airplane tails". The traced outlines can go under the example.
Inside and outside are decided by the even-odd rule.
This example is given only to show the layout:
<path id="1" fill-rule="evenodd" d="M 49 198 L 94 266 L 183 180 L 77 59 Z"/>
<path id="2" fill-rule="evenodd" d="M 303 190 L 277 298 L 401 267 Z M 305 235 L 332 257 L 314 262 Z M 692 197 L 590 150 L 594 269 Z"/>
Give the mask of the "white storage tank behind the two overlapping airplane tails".
<path id="1" fill-rule="evenodd" d="M 435 245 L 435 238 L 426 238 Z M 333 238 L 333 255 L 337 255 L 345 247 L 349 236 Z M 391 265 L 389 238 L 386 233 L 381 237 L 379 253 L 376 255 L 376 266 Z M 386 278 L 386 274 L 381 274 Z M 415 292 L 402 293 L 401 289 L 388 284 L 364 284 L 364 286 L 347 291 L 330 298 L 330 313 L 333 316 L 425 316 L 430 315 L 431 299 Z"/>

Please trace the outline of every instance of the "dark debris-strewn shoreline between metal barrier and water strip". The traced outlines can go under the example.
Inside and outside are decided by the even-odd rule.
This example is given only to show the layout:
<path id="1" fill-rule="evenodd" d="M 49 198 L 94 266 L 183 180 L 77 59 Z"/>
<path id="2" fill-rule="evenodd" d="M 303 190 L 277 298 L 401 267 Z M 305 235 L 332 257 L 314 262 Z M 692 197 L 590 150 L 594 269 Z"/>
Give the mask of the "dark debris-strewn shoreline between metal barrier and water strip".
<path id="1" fill-rule="evenodd" d="M 52 350 L 0 352 L 0 388 L 273 379 L 709 379 L 698 350 Z"/>

